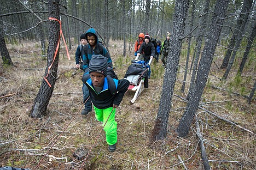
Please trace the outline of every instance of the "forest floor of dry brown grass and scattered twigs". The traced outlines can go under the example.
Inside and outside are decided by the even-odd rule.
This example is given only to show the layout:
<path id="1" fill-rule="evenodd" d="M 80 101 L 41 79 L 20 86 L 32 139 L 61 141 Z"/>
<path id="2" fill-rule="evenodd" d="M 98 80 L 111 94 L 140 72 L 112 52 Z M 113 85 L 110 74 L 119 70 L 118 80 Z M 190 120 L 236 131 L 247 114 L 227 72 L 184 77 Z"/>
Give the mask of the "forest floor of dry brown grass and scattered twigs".
<path id="1" fill-rule="evenodd" d="M 120 79 L 124 77 L 134 56 L 133 53 L 126 58 L 121 56 L 121 41 L 110 43 L 114 71 Z M 40 44 L 22 42 L 19 45 L 8 44 L 7 47 L 16 67 L 6 68 L 0 62 L 3 68 L 0 70 L 0 167 L 203 169 L 196 121 L 191 125 L 186 138 L 178 137 L 175 132 L 186 106 L 184 100 L 177 96 L 185 98 L 189 87 L 187 81 L 185 93 L 181 92 L 185 50 L 179 63 L 166 138 L 150 142 L 165 74 L 159 60 L 159 63 L 152 63 L 149 88 L 139 95 L 135 104 L 130 103 L 134 93 L 126 93 L 117 109 L 117 150 L 110 153 L 102 124 L 95 119 L 94 111 L 88 116 L 80 114 L 83 109 L 83 72 L 74 69 L 76 46 L 69 51 L 71 60 L 67 59 L 65 48 L 61 46 L 57 73 L 59 79 L 56 81 L 47 114 L 40 119 L 29 117 L 47 62 L 46 58 L 40 57 Z M 211 169 L 255 169 L 256 102 L 254 95 L 252 104 L 248 105 L 245 97 L 251 92 L 255 81 L 255 56 L 241 77 L 236 77 L 237 69 L 232 69 L 234 72 L 230 72 L 228 80 L 220 81 L 219 78 L 225 71 L 219 69 L 223 54 L 224 51 L 219 50 L 214 57 L 201 107 L 252 133 L 199 109 L 196 116 L 206 153 Z M 190 74 L 187 80 L 190 80 Z M 89 156 L 83 160 L 76 159 L 73 153 L 78 148 L 90 150 Z"/>

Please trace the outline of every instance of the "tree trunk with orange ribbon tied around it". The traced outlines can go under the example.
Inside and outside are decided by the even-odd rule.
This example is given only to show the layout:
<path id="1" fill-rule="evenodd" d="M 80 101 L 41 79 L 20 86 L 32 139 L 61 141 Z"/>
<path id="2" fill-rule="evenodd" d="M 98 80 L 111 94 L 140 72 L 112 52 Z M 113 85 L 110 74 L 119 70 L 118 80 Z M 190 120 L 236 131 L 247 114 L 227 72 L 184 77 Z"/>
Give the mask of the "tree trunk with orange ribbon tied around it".
<path id="1" fill-rule="evenodd" d="M 60 20 L 60 0 L 49 0 L 49 16 L 54 17 L 57 20 Z M 57 21 L 49 21 L 49 47 L 48 47 L 48 64 L 47 69 L 45 70 L 44 77 L 48 75 L 48 68 L 50 74 L 48 75 L 47 80 L 51 84 L 51 87 L 48 83 L 43 80 L 34 104 L 32 106 L 30 117 L 40 118 L 46 114 L 46 109 L 49 104 L 51 95 L 53 94 L 56 77 L 57 77 L 57 68 L 59 64 L 59 49 L 56 58 L 54 59 L 54 53 L 57 48 L 58 40 L 60 37 L 60 23 Z M 51 67 L 50 67 L 51 66 Z"/>

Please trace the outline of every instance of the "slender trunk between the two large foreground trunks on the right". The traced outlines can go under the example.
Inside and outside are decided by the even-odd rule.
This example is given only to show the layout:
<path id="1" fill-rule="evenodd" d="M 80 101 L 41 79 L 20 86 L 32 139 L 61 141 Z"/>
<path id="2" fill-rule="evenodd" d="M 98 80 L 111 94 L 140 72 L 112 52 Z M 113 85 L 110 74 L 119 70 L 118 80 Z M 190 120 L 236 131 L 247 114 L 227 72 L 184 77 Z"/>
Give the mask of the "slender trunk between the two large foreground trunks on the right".
<path id="1" fill-rule="evenodd" d="M 192 27 L 193 27 L 194 14 L 195 14 L 195 3 L 196 3 L 196 1 L 192 1 L 191 20 L 190 20 L 190 23 L 189 23 L 189 33 L 192 31 Z M 185 84 L 186 84 L 186 81 L 187 81 L 188 63 L 189 63 L 189 56 L 190 56 L 190 43 L 191 43 L 191 37 L 188 38 L 188 51 L 187 51 L 187 59 L 186 59 L 183 83 L 182 83 L 182 88 L 181 88 L 182 92 L 184 92 L 184 90 L 185 90 Z"/>

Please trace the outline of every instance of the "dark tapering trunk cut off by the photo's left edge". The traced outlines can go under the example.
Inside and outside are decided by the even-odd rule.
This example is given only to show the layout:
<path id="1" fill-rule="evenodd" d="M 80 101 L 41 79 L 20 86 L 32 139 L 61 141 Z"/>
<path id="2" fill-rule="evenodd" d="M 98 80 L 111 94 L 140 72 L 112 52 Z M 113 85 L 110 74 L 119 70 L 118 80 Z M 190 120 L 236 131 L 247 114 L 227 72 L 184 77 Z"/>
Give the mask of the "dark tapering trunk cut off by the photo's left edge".
<path id="1" fill-rule="evenodd" d="M 0 24 L 2 25 L 1 21 L 0 21 Z M 14 66 L 13 62 L 11 61 L 10 54 L 8 52 L 7 46 L 5 44 L 3 30 L 0 31 L 0 51 L 1 51 L 3 64 Z"/>

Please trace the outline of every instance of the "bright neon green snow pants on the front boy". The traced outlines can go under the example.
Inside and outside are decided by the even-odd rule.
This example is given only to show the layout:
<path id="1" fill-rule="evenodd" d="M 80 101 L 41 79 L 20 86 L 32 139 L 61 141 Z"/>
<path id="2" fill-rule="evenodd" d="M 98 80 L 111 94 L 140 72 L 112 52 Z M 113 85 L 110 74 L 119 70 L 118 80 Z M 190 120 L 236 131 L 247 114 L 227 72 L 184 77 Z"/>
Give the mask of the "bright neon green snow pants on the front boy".
<path id="1" fill-rule="evenodd" d="M 106 141 L 108 145 L 112 145 L 117 143 L 117 122 L 115 122 L 115 108 L 113 107 L 99 109 L 94 106 L 95 117 L 98 121 L 103 122 L 102 126 L 104 126 L 104 131 L 106 133 Z M 109 116 L 109 114 L 111 115 Z M 109 117 L 109 118 L 108 118 Z"/>

